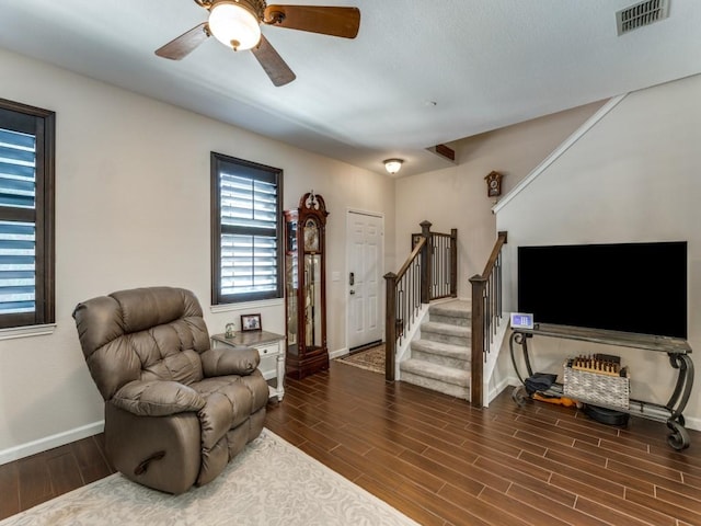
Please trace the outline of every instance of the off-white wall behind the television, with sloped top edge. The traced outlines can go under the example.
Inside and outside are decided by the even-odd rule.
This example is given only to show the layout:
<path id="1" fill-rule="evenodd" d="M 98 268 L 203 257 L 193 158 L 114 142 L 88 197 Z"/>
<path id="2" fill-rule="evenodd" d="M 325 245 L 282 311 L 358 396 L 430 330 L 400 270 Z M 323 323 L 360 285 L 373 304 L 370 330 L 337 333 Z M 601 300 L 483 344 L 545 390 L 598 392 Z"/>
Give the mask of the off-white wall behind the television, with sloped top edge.
<path id="1" fill-rule="evenodd" d="M 629 94 L 540 176 L 497 207 L 497 229 L 508 230 L 509 239 L 504 259 L 507 307 L 516 305 L 518 245 L 686 240 L 688 340 L 701 352 L 699 93 L 701 76 Z M 664 286 L 664 276 L 647 279 L 647 286 Z M 659 306 L 640 306 L 648 307 Z M 593 345 L 544 339 L 531 346 L 538 357 L 535 369 L 552 373 L 562 373 L 566 355 L 600 352 Z M 633 398 L 667 401 L 675 374 L 666 355 L 614 352 L 630 366 Z M 697 385 L 685 412 L 694 428 L 701 428 L 698 392 Z"/>

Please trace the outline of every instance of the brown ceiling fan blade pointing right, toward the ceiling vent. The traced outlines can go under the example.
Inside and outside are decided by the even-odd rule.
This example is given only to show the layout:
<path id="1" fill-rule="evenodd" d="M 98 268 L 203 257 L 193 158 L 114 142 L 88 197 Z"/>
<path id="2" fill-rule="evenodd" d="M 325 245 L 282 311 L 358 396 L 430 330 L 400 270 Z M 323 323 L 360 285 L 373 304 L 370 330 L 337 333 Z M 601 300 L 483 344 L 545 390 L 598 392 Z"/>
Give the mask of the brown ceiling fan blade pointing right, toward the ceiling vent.
<path id="1" fill-rule="evenodd" d="M 358 8 L 320 5 L 268 5 L 263 22 L 290 30 L 355 38 L 360 27 Z"/>

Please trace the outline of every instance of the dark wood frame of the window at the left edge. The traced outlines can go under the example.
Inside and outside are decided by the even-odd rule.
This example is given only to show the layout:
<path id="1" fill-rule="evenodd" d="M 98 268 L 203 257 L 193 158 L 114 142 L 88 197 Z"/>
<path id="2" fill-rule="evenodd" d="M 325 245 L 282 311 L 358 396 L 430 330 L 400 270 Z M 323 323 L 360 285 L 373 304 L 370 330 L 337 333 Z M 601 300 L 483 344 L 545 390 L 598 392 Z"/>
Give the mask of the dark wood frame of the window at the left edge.
<path id="1" fill-rule="evenodd" d="M 0 315 L 0 329 L 43 325 L 56 321 L 55 181 L 56 112 L 0 99 L 0 108 L 33 117 L 36 137 L 35 207 L 0 206 L 0 220 L 35 225 L 34 312 Z M 4 123 L 0 127 L 5 128 Z"/>

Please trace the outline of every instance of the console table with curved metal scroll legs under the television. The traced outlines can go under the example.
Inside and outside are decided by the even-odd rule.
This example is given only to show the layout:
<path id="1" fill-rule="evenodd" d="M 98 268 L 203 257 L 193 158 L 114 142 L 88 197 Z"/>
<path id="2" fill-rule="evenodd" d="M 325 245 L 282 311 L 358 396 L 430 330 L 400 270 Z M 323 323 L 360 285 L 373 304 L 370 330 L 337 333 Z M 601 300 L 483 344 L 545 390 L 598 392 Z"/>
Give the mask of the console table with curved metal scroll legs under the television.
<path id="1" fill-rule="evenodd" d="M 528 340 L 535 336 L 578 340 L 620 347 L 632 347 L 647 352 L 666 353 L 669 357 L 669 365 L 677 369 L 678 374 L 674 391 L 669 397 L 669 401 L 665 405 L 633 399 L 630 400 L 628 409 L 607 407 L 599 403 L 597 403 L 597 405 L 602 405 L 607 409 L 641 416 L 643 419 L 663 422 L 667 424 L 669 430 L 671 430 L 671 434 L 668 436 L 667 443 L 674 449 L 681 450 L 689 447 L 689 433 L 685 427 L 682 411 L 689 401 L 691 387 L 693 386 L 693 362 L 689 356 L 689 354 L 691 354 L 691 347 L 686 340 L 579 327 L 555 325 L 549 323 L 540 323 L 533 329 L 514 329 L 509 338 L 509 351 L 512 354 L 514 369 L 522 385 L 514 389 L 512 398 L 519 405 L 521 405 L 524 400 L 528 397 L 525 389 L 525 378 L 533 375 L 529 358 Z M 524 363 L 528 373 L 525 377 L 521 376 L 516 363 L 516 345 L 521 347 L 524 354 Z M 553 384 L 549 390 L 543 392 L 543 395 L 562 397 L 562 384 Z"/>

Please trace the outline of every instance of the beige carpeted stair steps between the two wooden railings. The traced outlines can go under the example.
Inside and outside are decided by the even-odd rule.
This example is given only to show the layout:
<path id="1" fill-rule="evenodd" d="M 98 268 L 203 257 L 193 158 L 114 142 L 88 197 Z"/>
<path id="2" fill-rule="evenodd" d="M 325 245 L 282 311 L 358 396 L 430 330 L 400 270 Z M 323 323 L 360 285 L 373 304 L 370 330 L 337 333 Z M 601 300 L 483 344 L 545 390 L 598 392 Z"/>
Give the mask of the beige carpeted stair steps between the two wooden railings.
<path id="1" fill-rule="evenodd" d="M 411 357 L 400 363 L 402 381 L 470 400 L 469 301 L 432 304 Z"/>

